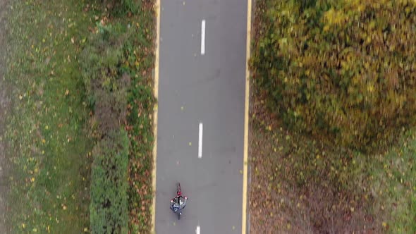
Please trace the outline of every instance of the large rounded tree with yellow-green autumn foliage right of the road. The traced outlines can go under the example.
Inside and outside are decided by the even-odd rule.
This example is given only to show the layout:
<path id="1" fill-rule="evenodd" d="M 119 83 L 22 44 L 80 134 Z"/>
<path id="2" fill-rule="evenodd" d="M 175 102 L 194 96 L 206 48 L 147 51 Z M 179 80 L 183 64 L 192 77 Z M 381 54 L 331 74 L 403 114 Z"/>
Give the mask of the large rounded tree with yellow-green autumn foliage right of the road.
<path id="1" fill-rule="evenodd" d="M 252 74 L 287 125 L 367 150 L 415 123 L 415 1 L 266 2 Z"/>

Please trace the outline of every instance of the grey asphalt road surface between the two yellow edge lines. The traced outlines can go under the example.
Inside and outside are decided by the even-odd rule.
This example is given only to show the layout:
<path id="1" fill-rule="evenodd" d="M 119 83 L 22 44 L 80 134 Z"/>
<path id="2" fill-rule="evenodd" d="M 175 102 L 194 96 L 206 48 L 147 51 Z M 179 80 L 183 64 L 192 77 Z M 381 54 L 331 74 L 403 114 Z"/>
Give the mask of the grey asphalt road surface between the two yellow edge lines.
<path id="1" fill-rule="evenodd" d="M 161 0 L 160 20 L 156 233 L 241 233 L 247 2 Z"/>

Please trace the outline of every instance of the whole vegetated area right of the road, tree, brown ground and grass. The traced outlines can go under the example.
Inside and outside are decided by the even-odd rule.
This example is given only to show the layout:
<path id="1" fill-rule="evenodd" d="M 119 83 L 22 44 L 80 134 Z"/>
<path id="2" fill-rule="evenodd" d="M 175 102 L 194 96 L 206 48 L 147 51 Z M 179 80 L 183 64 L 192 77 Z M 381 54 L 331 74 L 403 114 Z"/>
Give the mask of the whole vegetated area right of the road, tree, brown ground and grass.
<path id="1" fill-rule="evenodd" d="M 415 233 L 415 2 L 259 0 L 254 23 L 252 232 Z"/>

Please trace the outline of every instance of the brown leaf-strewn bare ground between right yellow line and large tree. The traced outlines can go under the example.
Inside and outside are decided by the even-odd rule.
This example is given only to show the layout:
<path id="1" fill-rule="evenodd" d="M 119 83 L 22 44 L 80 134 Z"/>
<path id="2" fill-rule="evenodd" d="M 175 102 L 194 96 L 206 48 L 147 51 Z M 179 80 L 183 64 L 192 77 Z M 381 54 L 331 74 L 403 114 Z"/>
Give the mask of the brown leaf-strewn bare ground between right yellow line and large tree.
<path id="1" fill-rule="evenodd" d="M 343 180 L 355 179 L 353 173 L 331 164 L 337 152 L 285 130 L 257 97 L 250 115 L 250 233 L 379 233 L 365 194 Z"/>

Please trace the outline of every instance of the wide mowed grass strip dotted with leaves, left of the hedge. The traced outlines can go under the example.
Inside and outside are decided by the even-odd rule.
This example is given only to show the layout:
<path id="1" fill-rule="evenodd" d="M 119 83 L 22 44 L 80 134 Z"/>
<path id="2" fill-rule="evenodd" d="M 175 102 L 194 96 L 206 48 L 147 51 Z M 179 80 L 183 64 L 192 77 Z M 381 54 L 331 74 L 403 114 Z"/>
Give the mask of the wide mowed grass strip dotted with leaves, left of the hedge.
<path id="1" fill-rule="evenodd" d="M 14 1 L 6 80 L 13 113 L 6 140 L 11 170 L 12 233 L 83 233 L 90 229 L 88 110 L 78 54 L 94 25 L 83 1 Z"/>

